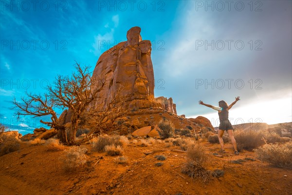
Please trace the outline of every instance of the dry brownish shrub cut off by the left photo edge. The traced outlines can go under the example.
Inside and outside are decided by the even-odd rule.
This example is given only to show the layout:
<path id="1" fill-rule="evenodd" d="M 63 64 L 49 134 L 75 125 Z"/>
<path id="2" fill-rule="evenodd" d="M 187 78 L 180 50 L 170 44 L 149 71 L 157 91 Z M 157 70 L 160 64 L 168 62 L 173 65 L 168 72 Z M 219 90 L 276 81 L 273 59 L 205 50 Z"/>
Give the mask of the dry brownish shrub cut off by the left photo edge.
<path id="1" fill-rule="evenodd" d="M 2 136 L 0 143 L 0 156 L 19 150 L 20 141 L 14 136 Z"/>

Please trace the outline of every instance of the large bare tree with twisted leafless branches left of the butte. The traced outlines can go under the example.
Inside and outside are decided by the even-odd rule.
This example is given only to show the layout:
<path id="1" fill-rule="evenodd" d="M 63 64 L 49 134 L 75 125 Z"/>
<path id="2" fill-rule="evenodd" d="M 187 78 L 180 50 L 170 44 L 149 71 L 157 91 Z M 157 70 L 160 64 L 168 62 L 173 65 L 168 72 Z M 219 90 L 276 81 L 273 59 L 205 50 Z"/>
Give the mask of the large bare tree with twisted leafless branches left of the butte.
<path id="1" fill-rule="evenodd" d="M 89 66 L 82 68 L 76 62 L 76 72 L 73 72 L 70 77 L 57 76 L 54 85 L 48 86 L 47 94 L 41 96 L 26 93 L 27 98 L 21 98 L 22 102 L 14 99 L 13 103 L 19 109 L 16 114 L 18 117 L 20 115 L 32 115 L 35 117 L 50 115 L 51 121 L 40 120 L 40 122 L 55 128 L 62 143 L 74 144 L 80 117 L 86 111 L 88 105 L 98 98 L 98 93 L 105 85 L 105 79 L 91 78 L 89 68 Z M 60 124 L 58 120 L 55 112 L 56 108 L 69 108 L 72 112 L 68 138 L 65 125 Z"/>

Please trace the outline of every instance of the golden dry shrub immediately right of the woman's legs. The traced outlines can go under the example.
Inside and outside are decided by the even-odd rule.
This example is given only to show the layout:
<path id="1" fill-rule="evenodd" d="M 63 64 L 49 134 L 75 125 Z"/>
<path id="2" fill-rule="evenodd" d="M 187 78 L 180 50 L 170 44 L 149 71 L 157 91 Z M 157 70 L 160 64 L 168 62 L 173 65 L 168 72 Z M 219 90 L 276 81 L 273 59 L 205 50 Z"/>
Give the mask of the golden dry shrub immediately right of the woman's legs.
<path id="1" fill-rule="evenodd" d="M 236 131 L 234 132 L 234 137 L 236 139 L 237 145 L 239 146 L 239 149 L 245 149 L 245 150 L 253 150 L 263 144 L 265 144 L 262 137 L 264 137 L 265 134 L 263 131 Z"/>

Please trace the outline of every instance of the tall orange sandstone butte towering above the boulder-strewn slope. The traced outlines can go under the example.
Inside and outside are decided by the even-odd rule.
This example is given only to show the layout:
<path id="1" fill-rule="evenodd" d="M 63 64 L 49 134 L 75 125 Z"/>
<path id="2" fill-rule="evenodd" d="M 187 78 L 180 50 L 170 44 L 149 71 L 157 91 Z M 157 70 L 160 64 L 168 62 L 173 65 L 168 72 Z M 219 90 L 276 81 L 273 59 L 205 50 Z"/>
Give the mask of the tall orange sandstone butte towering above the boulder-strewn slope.
<path id="1" fill-rule="evenodd" d="M 151 42 L 142 40 L 140 32 L 140 27 L 132 27 L 127 32 L 127 41 L 113 46 L 98 59 L 92 78 L 105 77 L 107 84 L 95 107 L 105 108 L 119 94 L 125 97 L 128 110 L 161 107 L 176 114 L 172 99 L 154 98 Z"/>

